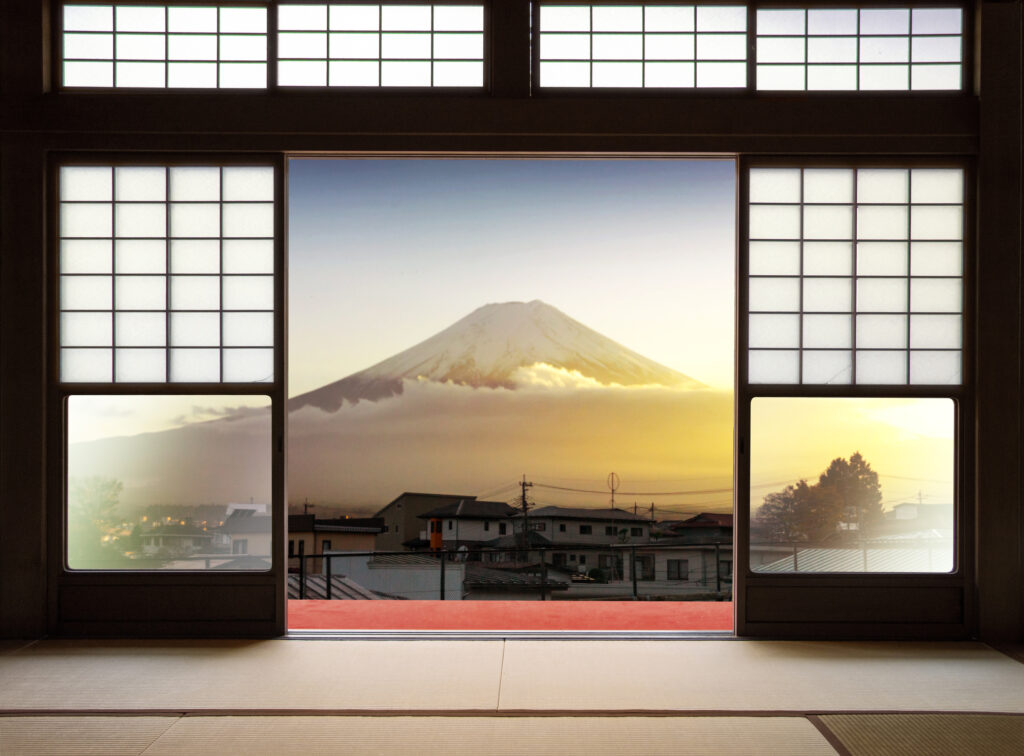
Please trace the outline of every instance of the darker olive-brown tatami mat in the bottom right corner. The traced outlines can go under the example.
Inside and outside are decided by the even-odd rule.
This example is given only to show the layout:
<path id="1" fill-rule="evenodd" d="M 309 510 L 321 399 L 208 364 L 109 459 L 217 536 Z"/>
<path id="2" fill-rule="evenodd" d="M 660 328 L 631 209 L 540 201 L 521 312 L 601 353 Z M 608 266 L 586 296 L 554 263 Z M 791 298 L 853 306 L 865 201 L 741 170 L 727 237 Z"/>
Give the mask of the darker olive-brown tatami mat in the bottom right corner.
<path id="1" fill-rule="evenodd" d="M 851 756 L 1021 756 L 1024 717 L 998 714 L 829 714 Z"/>

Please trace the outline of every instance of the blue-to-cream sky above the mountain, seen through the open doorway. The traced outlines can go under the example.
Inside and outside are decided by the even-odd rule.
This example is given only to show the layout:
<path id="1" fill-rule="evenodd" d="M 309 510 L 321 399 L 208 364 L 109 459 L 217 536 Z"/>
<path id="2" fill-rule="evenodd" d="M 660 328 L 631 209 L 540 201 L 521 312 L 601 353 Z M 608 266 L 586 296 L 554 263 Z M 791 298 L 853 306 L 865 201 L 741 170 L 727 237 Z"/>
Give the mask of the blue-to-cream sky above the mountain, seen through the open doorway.
<path id="1" fill-rule="evenodd" d="M 732 383 L 731 160 L 294 160 L 290 393 L 542 299 Z"/>

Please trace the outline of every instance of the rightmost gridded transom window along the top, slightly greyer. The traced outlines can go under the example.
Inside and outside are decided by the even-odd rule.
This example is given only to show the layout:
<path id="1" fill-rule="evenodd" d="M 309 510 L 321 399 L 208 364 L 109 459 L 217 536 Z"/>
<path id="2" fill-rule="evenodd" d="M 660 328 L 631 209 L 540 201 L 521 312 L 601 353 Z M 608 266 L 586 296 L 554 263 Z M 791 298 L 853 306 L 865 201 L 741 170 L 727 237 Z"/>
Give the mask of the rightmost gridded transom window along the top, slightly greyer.
<path id="1" fill-rule="evenodd" d="M 763 90 L 957 90 L 964 11 L 941 8 L 759 8 Z"/>

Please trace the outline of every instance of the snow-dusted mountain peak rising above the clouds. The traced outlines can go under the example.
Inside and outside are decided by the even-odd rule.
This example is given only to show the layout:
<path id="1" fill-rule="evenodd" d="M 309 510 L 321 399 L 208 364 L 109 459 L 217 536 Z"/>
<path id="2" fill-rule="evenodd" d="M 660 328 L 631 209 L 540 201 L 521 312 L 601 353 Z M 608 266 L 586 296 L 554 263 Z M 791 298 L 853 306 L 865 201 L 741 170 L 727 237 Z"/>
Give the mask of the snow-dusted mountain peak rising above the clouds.
<path id="1" fill-rule="evenodd" d="M 345 401 L 355 404 L 399 394 L 404 380 L 515 388 L 516 373 L 535 365 L 575 371 L 604 385 L 703 387 L 535 299 L 479 307 L 426 341 L 294 396 L 288 406 L 335 412 Z"/>

